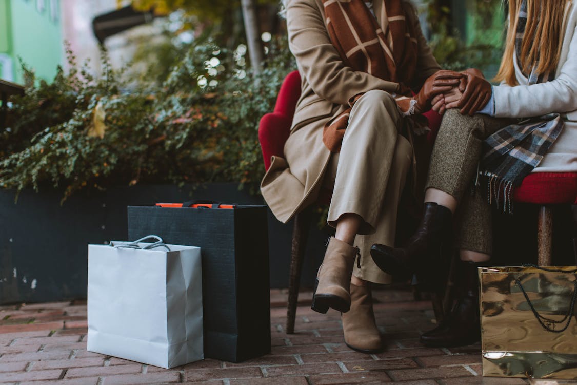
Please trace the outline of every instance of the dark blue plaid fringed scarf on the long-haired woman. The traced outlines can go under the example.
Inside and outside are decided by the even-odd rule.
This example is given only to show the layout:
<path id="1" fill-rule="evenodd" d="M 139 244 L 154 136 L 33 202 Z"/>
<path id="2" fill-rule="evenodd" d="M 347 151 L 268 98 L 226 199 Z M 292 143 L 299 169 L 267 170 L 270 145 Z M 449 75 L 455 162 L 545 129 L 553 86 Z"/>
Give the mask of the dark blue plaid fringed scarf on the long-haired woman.
<path id="1" fill-rule="evenodd" d="M 515 51 L 519 61 L 521 42 L 527 24 L 527 0 L 519 11 Z M 519 61 L 520 62 L 520 61 Z M 527 84 L 543 83 L 554 79 L 554 71 L 537 73 L 537 64 L 527 76 Z M 490 204 L 511 212 L 511 194 L 535 167 L 541 163 L 561 130 L 563 119 L 559 114 L 548 114 L 511 124 L 484 141 L 481 159 L 481 177 L 485 180 Z"/>

